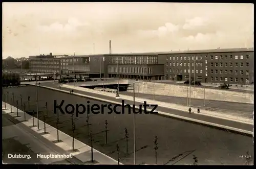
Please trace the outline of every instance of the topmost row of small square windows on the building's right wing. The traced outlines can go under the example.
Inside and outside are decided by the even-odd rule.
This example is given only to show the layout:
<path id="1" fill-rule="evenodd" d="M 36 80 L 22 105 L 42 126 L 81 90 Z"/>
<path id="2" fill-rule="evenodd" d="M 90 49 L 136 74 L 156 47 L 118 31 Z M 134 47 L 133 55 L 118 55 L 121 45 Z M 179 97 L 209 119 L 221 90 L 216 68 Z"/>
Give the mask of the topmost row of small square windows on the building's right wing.
<path id="1" fill-rule="evenodd" d="M 205 57 L 207 58 L 207 55 L 205 55 Z M 202 60 L 203 59 L 202 56 L 176 56 L 176 57 L 175 56 L 170 56 L 169 60 L 182 60 L 183 58 L 184 58 L 184 60 L 186 60 L 186 59 L 189 60 L 190 58 L 191 58 L 191 60 Z M 238 55 L 234 56 L 234 59 L 238 59 L 238 58 L 239 58 Z M 249 55 L 247 54 L 245 56 L 245 58 L 249 59 Z M 214 56 L 211 55 L 210 59 L 214 59 Z M 225 55 L 225 56 L 223 56 L 223 55 L 220 55 L 220 56 L 216 55 L 215 59 L 228 59 L 228 56 L 227 55 Z M 229 59 L 233 59 L 233 55 L 229 55 Z M 244 59 L 244 56 L 240 55 L 240 59 Z M 166 60 L 168 60 L 168 57 L 166 57 Z"/>

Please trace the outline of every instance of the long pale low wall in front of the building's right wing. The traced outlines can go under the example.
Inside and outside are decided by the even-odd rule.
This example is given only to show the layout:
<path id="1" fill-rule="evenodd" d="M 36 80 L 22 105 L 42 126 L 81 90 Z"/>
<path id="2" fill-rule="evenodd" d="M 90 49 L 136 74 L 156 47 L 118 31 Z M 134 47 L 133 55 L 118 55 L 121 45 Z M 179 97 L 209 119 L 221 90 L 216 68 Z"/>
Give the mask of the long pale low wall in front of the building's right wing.
<path id="1" fill-rule="evenodd" d="M 180 86 L 176 84 L 164 84 L 154 82 L 133 82 L 135 83 L 135 92 L 145 94 L 166 95 L 166 96 L 177 96 L 186 98 L 189 97 L 189 86 Z M 132 90 L 127 90 L 133 92 Z M 194 99 L 205 99 L 205 100 L 216 100 L 226 102 L 237 102 L 237 103 L 249 103 L 253 104 L 253 93 L 246 93 L 240 91 L 230 90 L 219 90 L 211 88 L 194 88 L 191 86 L 191 98 Z"/>

